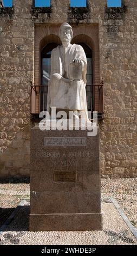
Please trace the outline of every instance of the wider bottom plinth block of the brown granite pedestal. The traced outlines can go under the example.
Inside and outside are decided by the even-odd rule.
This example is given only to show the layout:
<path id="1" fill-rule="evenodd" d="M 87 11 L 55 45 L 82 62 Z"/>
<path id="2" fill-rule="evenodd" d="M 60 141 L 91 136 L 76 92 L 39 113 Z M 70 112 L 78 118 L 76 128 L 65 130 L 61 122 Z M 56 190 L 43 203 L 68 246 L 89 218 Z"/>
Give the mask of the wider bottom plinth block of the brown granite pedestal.
<path id="1" fill-rule="evenodd" d="M 62 229 L 60 228 L 61 224 Z M 36 216 L 30 214 L 30 231 L 84 231 L 101 229 L 102 220 L 100 214 L 38 214 Z"/>

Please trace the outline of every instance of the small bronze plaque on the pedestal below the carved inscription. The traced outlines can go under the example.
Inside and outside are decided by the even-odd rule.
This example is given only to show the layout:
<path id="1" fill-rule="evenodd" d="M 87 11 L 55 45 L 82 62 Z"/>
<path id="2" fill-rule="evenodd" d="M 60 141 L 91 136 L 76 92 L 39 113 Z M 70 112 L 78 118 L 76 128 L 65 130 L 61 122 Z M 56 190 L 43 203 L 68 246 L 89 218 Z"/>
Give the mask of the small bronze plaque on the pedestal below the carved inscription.
<path id="1" fill-rule="evenodd" d="M 59 182 L 76 182 L 76 170 L 55 170 L 54 181 Z"/>

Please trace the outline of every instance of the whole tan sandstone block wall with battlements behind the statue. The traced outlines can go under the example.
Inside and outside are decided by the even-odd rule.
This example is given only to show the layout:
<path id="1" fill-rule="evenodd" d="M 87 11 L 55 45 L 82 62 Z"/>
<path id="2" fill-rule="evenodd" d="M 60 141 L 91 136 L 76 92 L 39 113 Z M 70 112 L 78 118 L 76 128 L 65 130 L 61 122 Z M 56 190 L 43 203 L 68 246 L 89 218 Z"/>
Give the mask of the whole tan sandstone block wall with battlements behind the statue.
<path id="1" fill-rule="evenodd" d="M 51 34 L 62 22 L 79 34 L 85 26 L 91 38 L 98 26 L 99 79 L 105 81 L 105 114 L 99 121 L 102 177 L 137 176 L 136 0 L 123 1 L 122 8 L 107 8 L 107 0 L 88 0 L 87 8 L 70 8 L 68 0 L 51 0 L 51 8 L 34 8 L 32 2 L 14 0 L 12 8 L 0 9 L 0 176 L 30 174 L 36 36 L 43 27 Z"/>

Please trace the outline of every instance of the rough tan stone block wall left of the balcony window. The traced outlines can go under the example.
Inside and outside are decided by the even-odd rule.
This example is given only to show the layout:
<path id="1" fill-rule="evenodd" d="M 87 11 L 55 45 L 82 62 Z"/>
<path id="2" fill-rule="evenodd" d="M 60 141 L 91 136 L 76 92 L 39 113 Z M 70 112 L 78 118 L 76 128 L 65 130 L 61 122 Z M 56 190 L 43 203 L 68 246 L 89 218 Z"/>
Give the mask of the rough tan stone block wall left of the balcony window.
<path id="1" fill-rule="evenodd" d="M 34 76 L 32 1 L 0 9 L 0 175 L 29 175 L 30 80 Z"/>

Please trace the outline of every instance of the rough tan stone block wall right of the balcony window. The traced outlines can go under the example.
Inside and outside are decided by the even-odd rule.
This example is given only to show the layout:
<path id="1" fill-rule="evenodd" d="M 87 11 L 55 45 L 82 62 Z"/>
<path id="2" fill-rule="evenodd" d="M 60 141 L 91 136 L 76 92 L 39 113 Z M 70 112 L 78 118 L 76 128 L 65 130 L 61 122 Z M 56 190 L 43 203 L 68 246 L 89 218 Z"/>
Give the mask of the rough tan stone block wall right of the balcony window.
<path id="1" fill-rule="evenodd" d="M 102 176 L 137 175 L 137 2 L 105 9 L 100 26 L 100 70 L 105 78 L 101 130 Z"/>

